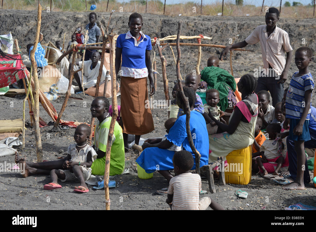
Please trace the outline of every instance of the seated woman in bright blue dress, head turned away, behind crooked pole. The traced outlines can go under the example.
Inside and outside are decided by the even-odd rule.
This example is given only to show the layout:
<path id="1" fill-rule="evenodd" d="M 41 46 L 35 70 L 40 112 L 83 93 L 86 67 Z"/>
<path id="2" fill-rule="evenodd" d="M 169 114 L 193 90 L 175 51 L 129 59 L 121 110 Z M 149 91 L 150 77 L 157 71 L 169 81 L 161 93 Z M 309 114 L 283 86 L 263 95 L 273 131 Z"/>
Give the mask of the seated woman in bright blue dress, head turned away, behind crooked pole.
<path id="1" fill-rule="evenodd" d="M 193 143 L 196 149 L 201 154 L 200 167 L 208 164 L 209 160 L 209 137 L 206 130 L 206 123 L 201 113 L 194 110 L 195 93 L 192 88 L 183 87 L 183 92 L 188 97 L 191 116 L 190 116 L 190 131 L 193 139 Z M 176 96 L 177 105 L 179 108 L 185 110 L 185 102 L 182 100 L 180 92 L 177 92 Z M 143 152 L 137 158 L 136 162 L 141 166 L 147 173 L 153 173 L 158 171 L 163 175 L 168 182 L 171 180 L 173 175 L 169 170 L 173 170 L 172 158 L 174 151 L 167 150 L 173 144 L 176 146 L 183 145 L 183 150 L 190 151 L 193 156 L 195 169 L 195 155 L 193 154 L 189 145 L 186 127 L 185 127 L 186 115 L 180 116 L 174 123 L 173 127 L 169 130 L 167 139 L 156 144 L 143 144 Z"/>

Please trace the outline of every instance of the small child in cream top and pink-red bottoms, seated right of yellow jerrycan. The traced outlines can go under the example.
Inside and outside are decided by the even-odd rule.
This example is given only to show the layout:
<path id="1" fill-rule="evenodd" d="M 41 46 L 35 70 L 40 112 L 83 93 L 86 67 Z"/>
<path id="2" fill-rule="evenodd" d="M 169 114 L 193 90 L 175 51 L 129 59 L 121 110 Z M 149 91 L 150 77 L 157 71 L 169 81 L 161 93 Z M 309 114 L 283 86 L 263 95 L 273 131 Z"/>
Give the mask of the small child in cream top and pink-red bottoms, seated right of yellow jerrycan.
<path id="1" fill-rule="evenodd" d="M 267 126 L 268 138 L 260 147 L 261 157 L 257 157 L 258 168 L 264 175 L 273 173 L 272 175 L 279 175 L 279 170 L 286 171 L 289 166 L 289 160 L 286 157 L 284 150 L 286 143 L 276 140 L 276 134 L 280 133 L 281 125 L 277 123 L 269 124 Z M 285 162 L 286 160 L 286 162 Z M 281 169 L 282 168 L 282 169 Z"/>

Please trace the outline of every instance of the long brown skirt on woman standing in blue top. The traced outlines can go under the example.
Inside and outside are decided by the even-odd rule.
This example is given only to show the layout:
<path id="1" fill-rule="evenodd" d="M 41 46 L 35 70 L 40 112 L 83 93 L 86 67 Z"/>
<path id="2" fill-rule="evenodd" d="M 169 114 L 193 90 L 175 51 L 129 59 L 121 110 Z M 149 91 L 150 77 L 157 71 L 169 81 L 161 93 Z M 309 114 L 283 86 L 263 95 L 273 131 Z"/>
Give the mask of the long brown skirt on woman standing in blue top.
<path id="1" fill-rule="evenodd" d="M 147 100 L 147 101 L 146 101 Z M 126 134 L 144 135 L 154 128 L 154 120 L 148 102 L 147 77 L 121 79 L 121 116 Z"/>

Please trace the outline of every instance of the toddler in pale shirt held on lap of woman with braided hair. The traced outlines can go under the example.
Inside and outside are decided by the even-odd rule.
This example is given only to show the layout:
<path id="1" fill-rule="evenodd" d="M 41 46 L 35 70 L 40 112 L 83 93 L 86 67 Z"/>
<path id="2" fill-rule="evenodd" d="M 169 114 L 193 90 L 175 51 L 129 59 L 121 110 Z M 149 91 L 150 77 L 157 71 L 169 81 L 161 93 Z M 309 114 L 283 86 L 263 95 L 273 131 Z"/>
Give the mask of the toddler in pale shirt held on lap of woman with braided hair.
<path id="1" fill-rule="evenodd" d="M 210 118 L 209 113 L 212 114 L 216 120 L 225 124 L 226 122 L 224 119 L 222 119 L 222 116 L 230 116 L 231 113 L 226 113 L 222 111 L 219 106 L 217 106 L 218 102 L 220 101 L 219 92 L 217 89 L 208 89 L 206 91 L 205 100 L 206 104 L 204 104 L 203 117 L 206 121 L 206 129 L 209 135 L 216 134 L 218 125 L 216 125 L 215 121 Z"/>

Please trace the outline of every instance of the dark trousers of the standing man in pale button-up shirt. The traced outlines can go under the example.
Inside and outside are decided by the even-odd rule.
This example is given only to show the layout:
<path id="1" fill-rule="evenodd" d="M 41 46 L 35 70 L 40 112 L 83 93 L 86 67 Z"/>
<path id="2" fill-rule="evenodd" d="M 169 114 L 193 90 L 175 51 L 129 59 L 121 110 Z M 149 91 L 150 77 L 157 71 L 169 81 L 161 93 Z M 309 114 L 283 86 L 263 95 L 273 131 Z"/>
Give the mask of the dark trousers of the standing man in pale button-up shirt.
<path id="1" fill-rule="evenodd" d="M 281 102 L 284 93 L 284 85 L 283 83 L 277 83 L 280 81 L 280 76 L 271 75 L 267 73 L 266 76 L 263 76 L 261 73 L 261 77 L 258 77 L 258 85 L 255 90 L 255 93 L 258 94 L 261 90 L 269 91 L 272 97 L 272 106 L 275 107 L 276 103 Z"/>

